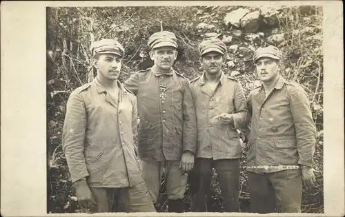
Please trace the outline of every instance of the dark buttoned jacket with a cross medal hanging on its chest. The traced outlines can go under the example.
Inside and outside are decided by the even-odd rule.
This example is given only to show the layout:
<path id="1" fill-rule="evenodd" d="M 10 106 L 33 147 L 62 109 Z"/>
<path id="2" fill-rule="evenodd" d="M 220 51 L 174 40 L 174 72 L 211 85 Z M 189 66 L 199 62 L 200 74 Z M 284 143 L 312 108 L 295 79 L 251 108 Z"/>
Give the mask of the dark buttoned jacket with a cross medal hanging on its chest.
<path id="1" fill-rule="evenodd" d="M 124 85 L 137 96 L 139 158 L 179 160 L 183 152 L 195 153 L 195 106 L 184 76 L 153 67 L 132 74 Z"/>

